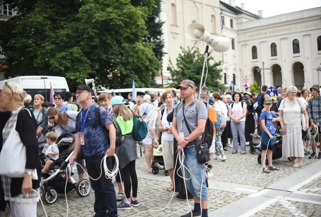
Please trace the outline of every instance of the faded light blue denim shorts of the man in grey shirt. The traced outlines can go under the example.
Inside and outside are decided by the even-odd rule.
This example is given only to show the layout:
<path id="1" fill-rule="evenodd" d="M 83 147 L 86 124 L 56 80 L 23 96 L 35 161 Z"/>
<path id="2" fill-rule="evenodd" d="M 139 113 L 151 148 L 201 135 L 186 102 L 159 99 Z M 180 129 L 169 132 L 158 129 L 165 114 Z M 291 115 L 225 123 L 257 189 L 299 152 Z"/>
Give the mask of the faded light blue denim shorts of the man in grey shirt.
<path id="1" fill-rule="evenodd" d="M 201 198 L 201 184 L 202 184 L 202 200 L 208 199 L 207 194 L 207 188 L 206 188 L 206 182 L 205 182 L 205 172 L 204 172 L 204 165 L 199 164 L 197 162 L 196 157 L 196 149 L 195 146 L 188 147 L 184 149 L 184 166 L 187 167 L 189 172 L 186 168 L 181 167 L 182 174 L 184 176 L 184 169 L 185 169 L 185 178 L 189 178 L 188 180 L 185 180 L 185 185 L 187 190 L 194 196 L 197 197 L 198 200 Z M 204 173 L 204 174 L 203 174 Z M 203 180 L 202 180 L 203 176 Z"/>

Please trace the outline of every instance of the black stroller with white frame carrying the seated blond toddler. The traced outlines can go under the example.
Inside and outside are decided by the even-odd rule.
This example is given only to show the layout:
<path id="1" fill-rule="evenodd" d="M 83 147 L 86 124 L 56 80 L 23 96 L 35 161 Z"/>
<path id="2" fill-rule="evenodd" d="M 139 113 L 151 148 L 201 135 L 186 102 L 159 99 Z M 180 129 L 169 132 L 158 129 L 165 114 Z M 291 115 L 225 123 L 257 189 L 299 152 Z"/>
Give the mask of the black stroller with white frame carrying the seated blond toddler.
<path id="1" fill-rule="evenodd" d="M 91 191 L 90 181 L 82 179 L 76 182 L 72 177 L 74 175 L 72 168 L 68 165 L 69 158 L 74 154 L 75 138 L 76 136 L 70 133 L 58 137 L 56 144 L 59 149 L 59 158 L 53 162 L 47 173 L 41 174 L 40 197 L 44 198 L 48 204 L 56 202 L 58 193 L 65 194 L 75 189 L 79 196 L 85 197 Z M 77 159 L 83 158 L 84 154 L 81 150 Z"/>

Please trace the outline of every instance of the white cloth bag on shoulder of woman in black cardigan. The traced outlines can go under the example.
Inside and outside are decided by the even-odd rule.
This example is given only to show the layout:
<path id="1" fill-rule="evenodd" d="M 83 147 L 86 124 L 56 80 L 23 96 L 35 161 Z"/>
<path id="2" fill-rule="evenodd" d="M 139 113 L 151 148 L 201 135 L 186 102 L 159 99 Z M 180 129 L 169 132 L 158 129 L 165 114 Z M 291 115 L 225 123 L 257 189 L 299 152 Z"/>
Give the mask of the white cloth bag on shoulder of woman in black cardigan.
<path id="1" fill-rule="evenodd" d="M 27 110 L 31 116 L 29 109 L 22 109 Z M 16 125 L 17 121 L 14 123 L 13 130 L 4 142 L 1 150 L 0 174 L 11 178 L 23 178 L 27 159 L 26 147 L 23 145 L 19 133 L 15 130 Z M 36 169 L 32 170 L 32 179 L 38 180 Z"/>

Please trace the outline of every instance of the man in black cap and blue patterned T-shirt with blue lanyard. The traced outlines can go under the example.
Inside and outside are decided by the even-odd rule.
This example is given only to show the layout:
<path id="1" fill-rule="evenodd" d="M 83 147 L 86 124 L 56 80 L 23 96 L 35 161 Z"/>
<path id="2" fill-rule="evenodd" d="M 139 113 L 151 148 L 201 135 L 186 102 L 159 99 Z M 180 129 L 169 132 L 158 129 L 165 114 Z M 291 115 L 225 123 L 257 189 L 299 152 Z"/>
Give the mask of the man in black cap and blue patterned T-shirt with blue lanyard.
<path id="1" fill-rule="evenodd" d="M 80 150 L 85 154 L 86 167 L 90 177 L 98 180 L 90 180 L 91 187 L 95 191 L 94 211 L 97 217 L 117 217 L 117 201 L 114 185 L 111 179 L 105 177 L 101 170 L 101 161 L 105 155 L 115 154 L 116 129 L 106 109 L 99 106 L 100 120 L 95 114 L 96 104 L 91 102 L 92 90 L 87 85 L 79 85 L 71 88 L 75 93 L 77 102 L 82 105 L 82 110 L 76 119 L 74 154 L 69 159 L 73 164 Z M 109 131 L 109 138 L 105 137 L 104 127 Z M 107 167 L 111 170 L 111 158 L 107 158 Z"/>

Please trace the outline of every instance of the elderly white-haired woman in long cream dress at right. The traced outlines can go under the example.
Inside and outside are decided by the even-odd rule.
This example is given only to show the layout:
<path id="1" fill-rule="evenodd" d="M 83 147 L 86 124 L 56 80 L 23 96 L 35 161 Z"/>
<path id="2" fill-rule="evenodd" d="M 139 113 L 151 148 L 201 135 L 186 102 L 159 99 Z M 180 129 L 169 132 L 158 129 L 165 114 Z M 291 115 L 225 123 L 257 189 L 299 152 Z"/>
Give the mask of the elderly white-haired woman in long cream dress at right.
<path id="1" fill-rule="evenodd" d="M 291 162 L 288 166 L 302 167 L 302 158 L 304 157 L 304 147 L 302 141 L 301 113 L 305 117 L 305 130 L 308 126 L 308 113 L 304 99 L 296 97 L 298 89 L 295 86 L 289 86 L 286 89 L 287 97 L 281 101 L 279 107 L 279 117 L 281 119 L 281 132 L 283 136 L 282 156 L 289 158 Z M 298 162 L 294 160 L 299 158 Z"/>

